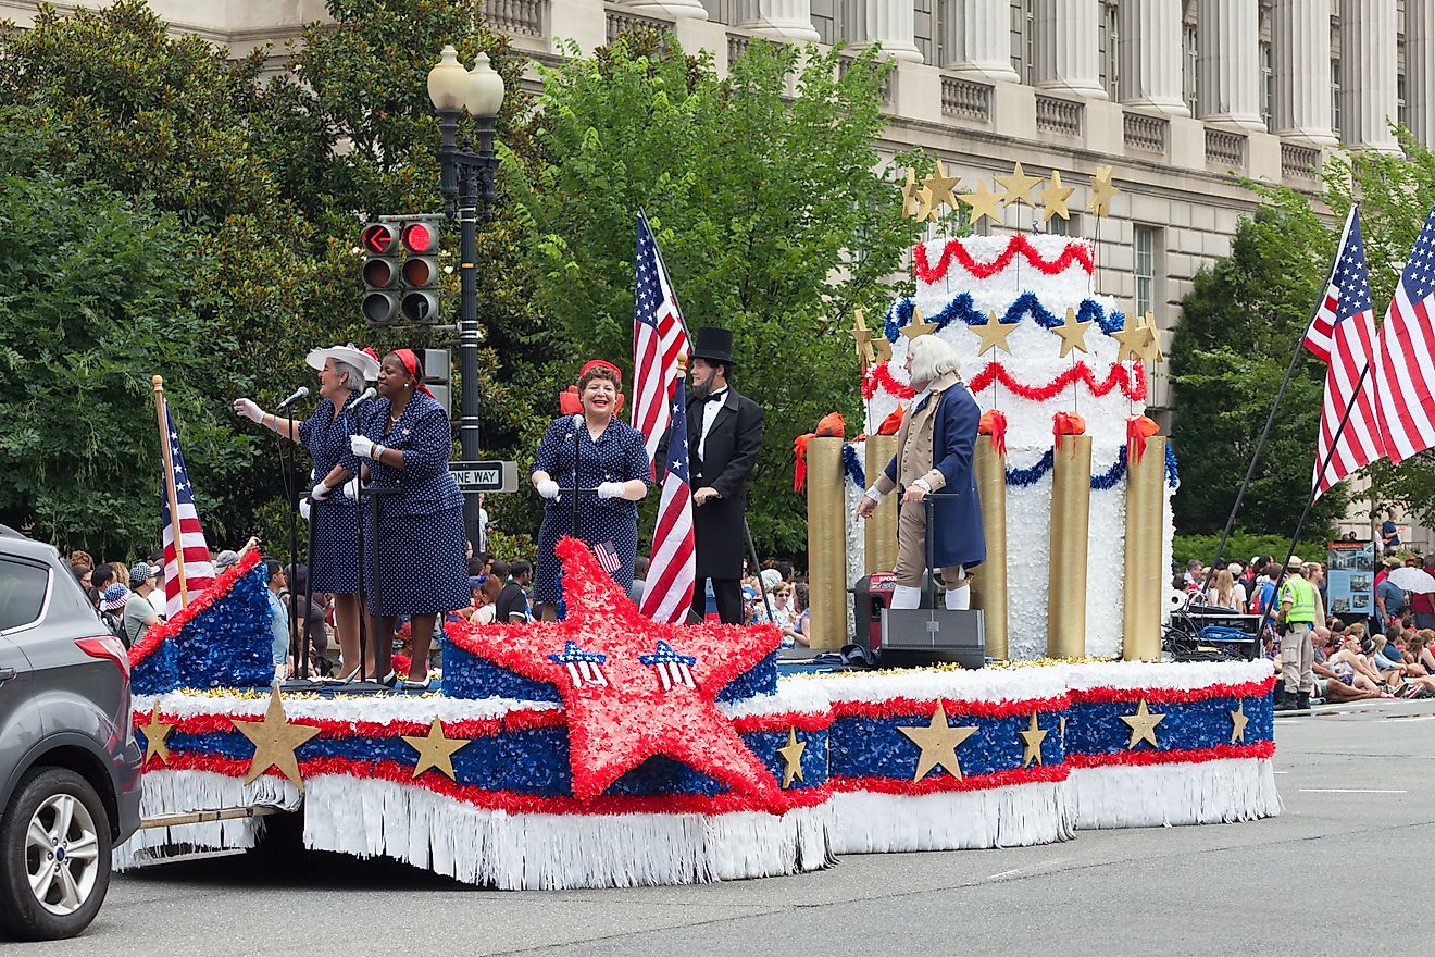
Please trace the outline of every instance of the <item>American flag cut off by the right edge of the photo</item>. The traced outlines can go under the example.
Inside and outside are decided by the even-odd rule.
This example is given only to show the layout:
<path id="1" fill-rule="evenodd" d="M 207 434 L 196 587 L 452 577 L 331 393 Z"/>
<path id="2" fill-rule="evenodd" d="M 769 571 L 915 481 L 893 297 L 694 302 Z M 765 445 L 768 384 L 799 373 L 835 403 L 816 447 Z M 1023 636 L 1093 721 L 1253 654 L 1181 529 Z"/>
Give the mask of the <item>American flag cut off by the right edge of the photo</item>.
<path id="1" fill-rule="evenodd" d="M 1380 433 L 1392 462 L 1435 445 L 1435 209 L 1415 240 L 1395 298 L 1380 324 L 1375 395 Z"/>

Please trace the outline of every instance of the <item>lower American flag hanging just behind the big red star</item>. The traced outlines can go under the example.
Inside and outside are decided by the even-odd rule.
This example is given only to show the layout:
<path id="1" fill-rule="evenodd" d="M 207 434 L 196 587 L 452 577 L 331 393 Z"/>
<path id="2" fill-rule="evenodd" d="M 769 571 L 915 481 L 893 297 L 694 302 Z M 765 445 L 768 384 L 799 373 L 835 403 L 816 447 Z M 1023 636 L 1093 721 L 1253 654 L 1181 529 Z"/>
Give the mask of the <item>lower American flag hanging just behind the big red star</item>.
<path id="1" fill-rule="evenodd" d="M 672 425 L 667 430 L 667 473 L 653 529 L 653 557 L 647 568 L 640 611 L 654 621 L 682 624 L 693 603 L 697 568 L 693 561 L 693 489 L 687 471 L 687 390 L 682 377 L 673 389 Z"/>

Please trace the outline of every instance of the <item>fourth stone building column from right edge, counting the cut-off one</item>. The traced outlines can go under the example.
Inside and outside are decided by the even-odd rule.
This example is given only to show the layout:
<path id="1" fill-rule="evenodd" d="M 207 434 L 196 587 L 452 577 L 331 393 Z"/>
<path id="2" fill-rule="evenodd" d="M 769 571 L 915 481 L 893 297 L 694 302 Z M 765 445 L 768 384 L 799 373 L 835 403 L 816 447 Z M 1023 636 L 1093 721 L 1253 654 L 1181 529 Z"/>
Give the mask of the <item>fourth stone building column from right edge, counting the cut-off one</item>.
<path id="1" fill-rule="evenodd" d="M 1195 16 L 1201 119 L 1266 132 L 1260 118 L 1258 4 L 1201 0 Z"/>

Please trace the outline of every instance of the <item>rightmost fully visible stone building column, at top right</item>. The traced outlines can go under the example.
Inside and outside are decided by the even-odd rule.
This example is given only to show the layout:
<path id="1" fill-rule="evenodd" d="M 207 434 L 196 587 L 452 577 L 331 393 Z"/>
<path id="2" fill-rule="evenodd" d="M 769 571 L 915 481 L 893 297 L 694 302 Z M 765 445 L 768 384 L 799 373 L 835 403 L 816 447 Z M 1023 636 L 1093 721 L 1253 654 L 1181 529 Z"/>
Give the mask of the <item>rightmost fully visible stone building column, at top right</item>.
<path id="1" fill-rule="evenodd" d="M 1401 152 L 1389 128 L 1399 112 L 1395 53 L 1395 0 L 1340 0 L 1340 139 L 1346 146 Z"/>

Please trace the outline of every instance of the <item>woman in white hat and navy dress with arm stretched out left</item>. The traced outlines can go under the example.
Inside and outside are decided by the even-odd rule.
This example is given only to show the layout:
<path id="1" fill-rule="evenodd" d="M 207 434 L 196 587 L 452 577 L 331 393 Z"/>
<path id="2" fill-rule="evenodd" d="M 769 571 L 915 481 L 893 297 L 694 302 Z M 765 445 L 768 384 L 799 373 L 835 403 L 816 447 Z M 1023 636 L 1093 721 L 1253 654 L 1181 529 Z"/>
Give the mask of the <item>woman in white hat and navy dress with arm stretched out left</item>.
<path id="1" fill-rule="evenodd" d="M 334 595 L 334 630 L 343 654 L 346 677 L 359 671 L 359 517 L 357 504 L 344 485 L 359 472 L 349 449 L 349 436 L 362 435 L 360 413 L 350 406 L 364 387 L 379 376 L 373 354 L 349 346 L 316 349 L 306 360 L 319 370 L 319 397 L 314 413 L 303 422 L 281 419 L 264 412 L 250 399 L 235 399 L 234 412 L 293 440 L 303 442 L 314 461 L 319 478 L 309 496 L 324 502 L 323 518 L 314 527 L 314 551 L 310 575 L 314 591 Z"/>

